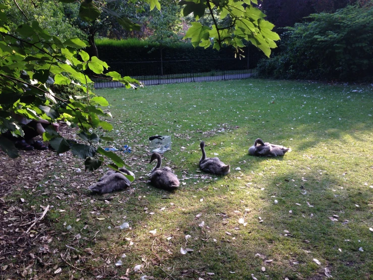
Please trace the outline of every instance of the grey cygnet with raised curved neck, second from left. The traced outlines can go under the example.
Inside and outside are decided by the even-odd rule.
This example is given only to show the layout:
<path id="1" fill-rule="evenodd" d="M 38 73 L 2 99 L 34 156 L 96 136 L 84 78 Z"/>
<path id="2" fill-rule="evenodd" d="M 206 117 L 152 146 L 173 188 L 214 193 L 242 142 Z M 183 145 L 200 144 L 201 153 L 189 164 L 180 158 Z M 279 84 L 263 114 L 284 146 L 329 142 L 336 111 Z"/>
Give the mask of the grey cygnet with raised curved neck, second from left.
<path id="1" fill-rule="evenodd" d="M 157 164 L 153 170 L 151 170 L 149 175 L 151 184 L 156 188 L 164 190 L 176 189 L 180 185 L 178 177 L 172 172 L 170 167 L 161 168 L 161 155 L 158 153 L 153 153 L 151 155 L 150 163 L 155 159 L 157 160 Z"/>

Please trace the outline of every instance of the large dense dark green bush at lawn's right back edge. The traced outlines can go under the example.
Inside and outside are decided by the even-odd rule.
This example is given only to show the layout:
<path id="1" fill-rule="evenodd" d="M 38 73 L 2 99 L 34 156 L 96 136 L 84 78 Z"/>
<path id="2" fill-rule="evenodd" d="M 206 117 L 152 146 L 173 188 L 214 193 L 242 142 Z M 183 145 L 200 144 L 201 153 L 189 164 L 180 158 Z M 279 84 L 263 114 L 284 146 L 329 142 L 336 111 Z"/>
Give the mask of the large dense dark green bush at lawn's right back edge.
<path id="1" fill-rule="evenodd" d="M 277 78 L 371 80 L 373 7 L 349 6 L 289 27 L 280 55 L 263 60 L 259 75 Z"/>

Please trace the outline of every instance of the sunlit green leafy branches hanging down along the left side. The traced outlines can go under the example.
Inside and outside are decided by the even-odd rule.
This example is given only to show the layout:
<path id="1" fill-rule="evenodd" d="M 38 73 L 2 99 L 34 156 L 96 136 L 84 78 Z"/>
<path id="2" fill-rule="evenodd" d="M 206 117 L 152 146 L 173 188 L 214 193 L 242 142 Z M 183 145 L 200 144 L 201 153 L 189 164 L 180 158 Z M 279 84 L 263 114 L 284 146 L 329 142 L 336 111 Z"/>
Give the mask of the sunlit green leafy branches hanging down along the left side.
<path id="1" fill-rule="evenodd" d="M 51 126 L 43 134 L 44 141 L 49 141 L 58 153 L 71 150 L 82 159 L 96 157 L 97 151 L 92 144 L 110 139 L 93 131 L 99 127 L 104 130 L 113 127 L 102 119 L 111 118 L 110 112 L 100 108 L 109 103 L 91 90 L 93 82 L 86 75 L 86 70 L 101 75 L 101 78 L 119 81 L 127 88 L 136 88 L 141 84 L 114 71 L 105 73 L 108 64 L 83 51 L 87 47 L 85 41 L 79 38 L 61 41 L 42 29 L 36 21 L 31 25 L 22 24 L 11 33 L 9 20 L 1 11 L 4 9 L 6 6 L 0 5 L 0 131 L 23 136 L 20 116 L 49 122 L 64 119 L 69 125 L 80 128 L 78 136 L 87 145 L 65 139 Z M 54 91 L 55 86 L 70 84 L 82 95 L 64 98 Z M 0 148 L 12 158 L 18 156 L 14 144 L 4 135 L 0 136 Z M 102 153 L 98 151 L 98 154 Z M 111 154 L 104 156 L 112 157 Z M 93 168 L 89 169 L 97 168 L 101 161 L 95 160 L 90 165 Z M 116 157 L 113 161 L 117 165 L 124 165 Z"/>

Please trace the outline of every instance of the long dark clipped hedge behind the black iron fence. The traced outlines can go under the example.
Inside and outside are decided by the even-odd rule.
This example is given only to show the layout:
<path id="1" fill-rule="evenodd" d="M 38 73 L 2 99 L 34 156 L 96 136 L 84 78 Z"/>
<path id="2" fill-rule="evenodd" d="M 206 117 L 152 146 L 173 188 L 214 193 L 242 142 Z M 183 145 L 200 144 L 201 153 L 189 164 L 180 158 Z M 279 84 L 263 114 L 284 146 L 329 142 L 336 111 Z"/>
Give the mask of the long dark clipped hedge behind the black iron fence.
<path id="1" fill-rule="evenodd" d="M 137 39 L 111 40 L 98 39 L 96 46 L 99 58 L 109 64 L 111 71 L 122 75 L 160 75 L 178 73 L 199 73 L 214 70 L 247 69 L 247 47 L 244 48 L 245 58 L 241 60 L 234 55 L 234 49 L 223 48 L 220 51 L 212 47 L 193 48 L 190 43 L 177 43 L 165 46 L 161 54 L 154 43 Z M 259 52 L 250 46 L 249 68 L 254 68 Z M 182 61 L 182 62 L 180 62 Z"/>

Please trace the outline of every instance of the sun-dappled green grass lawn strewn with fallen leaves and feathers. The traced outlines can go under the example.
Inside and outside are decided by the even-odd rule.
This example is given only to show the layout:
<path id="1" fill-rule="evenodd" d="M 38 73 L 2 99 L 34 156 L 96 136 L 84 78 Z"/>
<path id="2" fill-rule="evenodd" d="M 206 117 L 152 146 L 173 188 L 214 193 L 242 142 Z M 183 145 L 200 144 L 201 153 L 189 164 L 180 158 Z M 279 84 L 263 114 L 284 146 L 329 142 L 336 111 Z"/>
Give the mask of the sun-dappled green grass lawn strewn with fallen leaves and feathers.
<path id="1" fill-rule="evenodd" d="M 87 187 L 105 167 L 63 181 L 55 178 L 71 169 L 61 164 L 54 185 L 45 176 L 40 196 L 23 207 L 55 206 L 45 218 L 57 233 L 48 245 L 51 277 L 325 279 L 328 269 L 334 279 L 373 279 L 371 85 L 248 79 L 96 92 L 114 116 L 105 135 L 115 143 L 102 145 L 131 146 L 116 153 L 136 181 L 100 196 Z M 181 182 L 172 193 L 147 182 L 155 134 L 172 136 L 163 155 Z M 292 151 L 249 156 L 258 137 Z M 208 157 L 230 164 L 229 175 L 200 172 L 202 140 Z M 58 188 L 65 200 L 42 195 Z M 116 227 L 124 222 L 130 228 Z"/>

